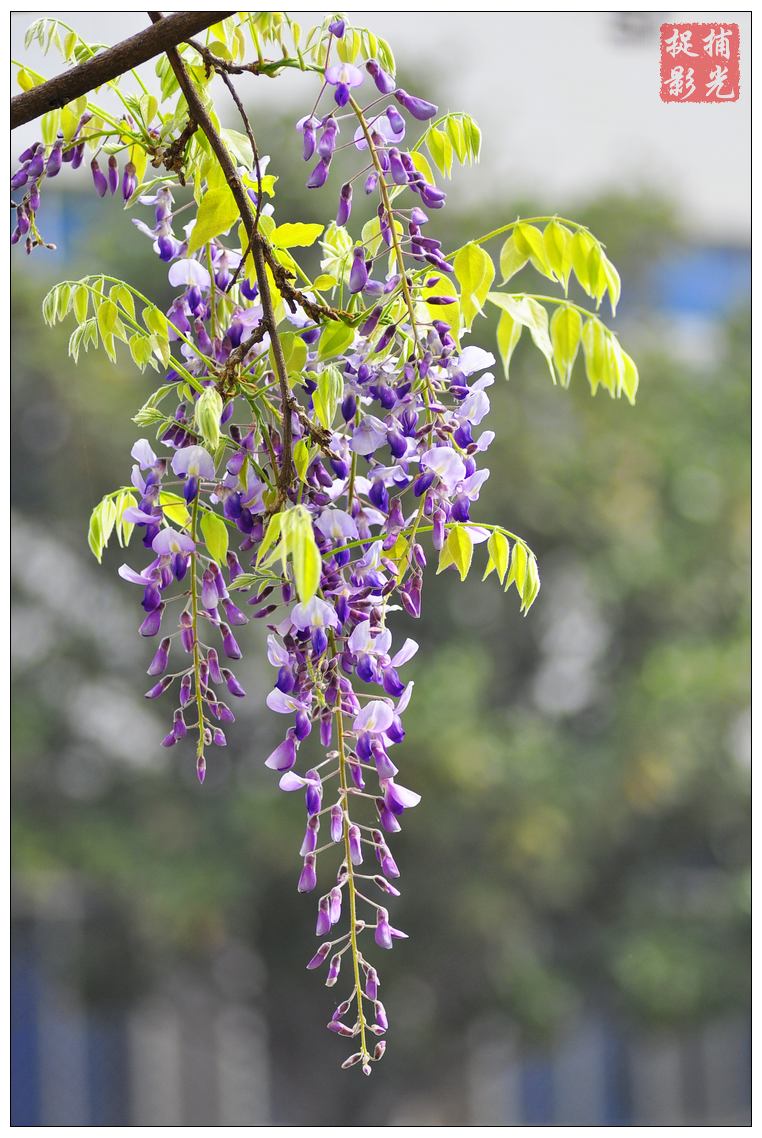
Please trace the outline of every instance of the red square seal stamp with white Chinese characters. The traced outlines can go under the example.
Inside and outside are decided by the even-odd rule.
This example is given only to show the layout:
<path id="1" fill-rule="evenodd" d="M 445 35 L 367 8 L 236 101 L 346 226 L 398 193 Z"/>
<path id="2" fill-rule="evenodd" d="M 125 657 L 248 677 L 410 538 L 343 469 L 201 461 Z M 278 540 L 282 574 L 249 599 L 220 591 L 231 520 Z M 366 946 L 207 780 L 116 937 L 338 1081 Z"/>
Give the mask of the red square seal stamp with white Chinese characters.
<path id="1" fill-rule="evenodd" d="M 738 24 L 662 24 L 662 101 L 736 102 L 739 48 Z"/>

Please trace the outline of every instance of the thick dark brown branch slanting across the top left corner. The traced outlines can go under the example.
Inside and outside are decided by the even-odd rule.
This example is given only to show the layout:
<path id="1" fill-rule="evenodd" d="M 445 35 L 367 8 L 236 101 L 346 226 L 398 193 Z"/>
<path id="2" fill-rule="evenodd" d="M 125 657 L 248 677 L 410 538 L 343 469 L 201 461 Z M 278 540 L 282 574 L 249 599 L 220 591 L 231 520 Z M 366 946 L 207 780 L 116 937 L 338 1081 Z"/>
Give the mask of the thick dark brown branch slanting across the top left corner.
<path id="1" fill-rule="evenodd" d="M 39 118 L 48 110 L 64 107 L 72 99 L 88 94 L 102 83 L 124 75 L 138 64 L 144 64 L 147 59 L 160 55 L 167 48 L 174 48 L 191 35 L 197 35 L 212 24 L 233 15 L 232 11 L 173 13 L 152 27 L 122 40 L 107 51 L 99 51 L 92 59 L 48 80 L 47 83 L 14 96 L 10 100 L 10 129 Z"/>

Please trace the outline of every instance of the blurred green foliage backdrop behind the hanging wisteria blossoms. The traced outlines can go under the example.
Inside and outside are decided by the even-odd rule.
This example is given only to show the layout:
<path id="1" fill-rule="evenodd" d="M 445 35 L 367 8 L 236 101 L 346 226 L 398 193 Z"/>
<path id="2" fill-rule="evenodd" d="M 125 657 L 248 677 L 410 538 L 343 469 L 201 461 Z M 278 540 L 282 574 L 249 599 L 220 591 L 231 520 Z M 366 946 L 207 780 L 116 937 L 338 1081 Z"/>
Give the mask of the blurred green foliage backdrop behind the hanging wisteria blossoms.
<path id="1" fill-rule="evenodd" d="M 290 119 L 260 134 L 278 150 L 279 217 L 330 211 L 332 191 L 301 190 L 296 146 L 278 147 Z M 437 217 L 446 247 L 537 212 L 463 176 L 470 205 Z M 237 999 L 266 1024 L 268 1116 L 288 1123 L 389 1123 L 411 1098 L 424 1118 L 446 1102 L 449 1120 L 467 1120 L 484 1022 L 531 1052 L 580 1009 L 688 1033 L 743 1014 L 749 327 L 742 299 L 696 324 L 699 351 L 685 351 L 686 325 L 654 287 L 660 258 L 696 245 L 670 203 L 558 203 L 620 269 L 614 327 L 640 368 L 637 406 L 590 398 L 581 369 L 553 389 L 527 344 L 491 388 L 479 514 L 538 553 L 531 615 L 494 577 L 432 574 L 422 620 L 398 620 L 422 645 L 399 758 L 423 802 L 396 848 L 395 920 L 411 940 L 383 960 L 392 1030 L 370 1088 L 337 1072 L 332 997 L 304 968 L 314 906 L 296 892 L 301 807 L 262 765 L 279 729 L 263 630 L 247 630 L 249 699 L 201 790 L 192 756 L 159 748 L 166 709 L 142 700 L 124 555 L 89 560 L 89 511 L 129 475 L 130 415 L 151 374 L 93 355 L 75 368 L 68 329 L 44 329 L 40 302 L 92 269 L 163 302 L 161 266 L 116 201 L 65 193 L 44 208 L 75 237 L 67 256 L 14 264 L 14 859 L 22 931 L 67 890 L 84 899 L 86 935 L 58 979 L 115 1016 L 172 978 L 214 986 L 238 946 Z M 546 290 L 531 272 L 524 287 Z M 478 321 L 480 343 L 494 332 Z"/>

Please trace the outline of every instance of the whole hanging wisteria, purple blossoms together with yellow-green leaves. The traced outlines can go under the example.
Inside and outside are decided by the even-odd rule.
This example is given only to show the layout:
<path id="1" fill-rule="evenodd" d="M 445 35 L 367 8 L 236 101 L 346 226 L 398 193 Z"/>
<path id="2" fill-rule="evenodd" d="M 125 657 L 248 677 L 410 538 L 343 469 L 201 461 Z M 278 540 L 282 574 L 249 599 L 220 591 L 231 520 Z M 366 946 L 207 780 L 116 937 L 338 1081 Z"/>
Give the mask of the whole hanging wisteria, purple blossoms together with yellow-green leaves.
<path id="1" fill-rule="evenodd" d="M 83 41 L 72 35 L 55 20 L 31 31 L 78 58 Z M 307 187 L 345 171 L 328 228 L 276 220 L 276 176 L 232 83 L 242 71 L 285 67 L 305 75 L 310 109 L 297 132 Z M 581 346 L 593 390 L 632 401 L 635 364 L 566 296 L 573 274 L 613 307 L 619 277 L 588 230 L 557 217 L 513 221 L 447 251 L 432 232 L 446 201 L 438 182 L 454 163 L 478 160 L 479 130 L 398 86 L 388 44 L 343 17 L 305 35 L 284 14 L 238 14 L 157 71 L 161 106 L 118 84 L 122 118 L 91 100 L 45 116 L 11 180 L 23 191 L 11 240 L 44 244 L 42 183 L 92 154 L 97 193 L 118 191 L 136 211 L 175 290 L 166 312 L 102 274 L 45 298 L 49 323 L 76 320 L 75 360 L 99 344 L 115 360 L 122 343 L 160 376 L 135 415 L 156 437 L 135 442 L 130 483 L 93 511 L 90 545 L 100 560 L 111 535 L 132 539 L 119 575 L 139 589 L 139 633 L 151 644 L 146 696 L 171 693 L 161 744 L 190 741 L 200 782 L 246 695 L 234 670 L 246 625 L 266 626 L 266 703 L 283 735 L 264 761 L 281 790 L 304 794 L 295 884 L 315 897 L 318 939 L 307 967 L 341 986 L 328 1028 L 350 1041 L 343 1066 L 370 1074 L 388 1028 L 378 950 L 406 935 L 390 912 L 400 876 L 391 842 L 421 800 L 400 748 L 413 694 L 405 669 L 419 645 L 396 638 L 395 615 L 421 615 L 432 555 L 437 571 L 465 578 L 477 545 L 484 576 L 513 586 L 524 611 L 539 589 L 528 545 L 477 517 L 496 360 L 469 343 L 472 325 L 488 303 L 499 311 L 506 376 L 528 329 L 554 382 L 569 384 Z M 205 109 L 215 74 L 242 131 L 221 130 Z M 357 187 L 372 211 L 353 237 Z M 563 296 L 492 291 L 486 246 L 497 239 L 504 284 L 531 264 Z M 322 271 L 312 279 L 295 250 L 317 240 Z"/>

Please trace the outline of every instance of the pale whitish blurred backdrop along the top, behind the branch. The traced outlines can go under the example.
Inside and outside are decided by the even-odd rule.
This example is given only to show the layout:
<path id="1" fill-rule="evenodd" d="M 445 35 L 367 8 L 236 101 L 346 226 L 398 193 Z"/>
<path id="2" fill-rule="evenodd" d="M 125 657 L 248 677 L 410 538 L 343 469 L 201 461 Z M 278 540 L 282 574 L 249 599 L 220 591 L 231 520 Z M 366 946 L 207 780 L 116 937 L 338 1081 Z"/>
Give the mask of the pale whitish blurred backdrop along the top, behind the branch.
<path id="1" fill-rule="evenodd" d="M 142 11 L 23 13 L 11 17 L 11 53 L 39 15 L 56 15 L 85 38 L 113 43 L 146 26 Z M 303 24 L 312 14 L 293 11 Z M 511 197 L 563 213 L 606 189 L 665 190 L 689 225 L 710 239 L 745 241 L 751 228 L 751 99 L 748 13 L 349 13 L 388 39 L 407 74 L 421 73 L 420 93 L 436 79 L 449 92 L 442 109 L 467 110 L 483 132 L 481 176 Z M 664 104 L 659 96 L 659 26 L 670 22 L 736 23 L 742 41 L 742 91 L 723 105 Z M 624 22 L 630 34 L 623 34 Z M 57 58 L 30 52 L 45 75 Z M 150 71 L 148 65 L 144 71 Z M 272 83 L 246 77 L 245 101 L 278 97 L 306 113 L 305 76 Z M 413 84 L 411 84 L 413 85 Z M 312 89 L 310 89 L 312 90 Z M 256 106 L 256 105 L 255 105 Z M 305 109 L 306 108 L 306 109 Z M 17 131 L 18 152 L 34 137 Z M 464 175 L 453 200 L 467 196 Z"/>

